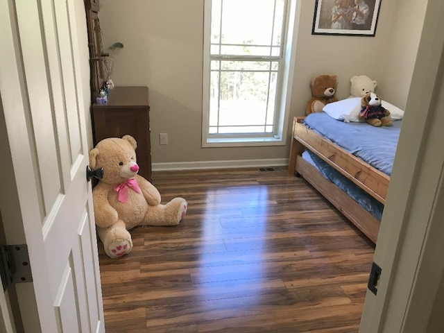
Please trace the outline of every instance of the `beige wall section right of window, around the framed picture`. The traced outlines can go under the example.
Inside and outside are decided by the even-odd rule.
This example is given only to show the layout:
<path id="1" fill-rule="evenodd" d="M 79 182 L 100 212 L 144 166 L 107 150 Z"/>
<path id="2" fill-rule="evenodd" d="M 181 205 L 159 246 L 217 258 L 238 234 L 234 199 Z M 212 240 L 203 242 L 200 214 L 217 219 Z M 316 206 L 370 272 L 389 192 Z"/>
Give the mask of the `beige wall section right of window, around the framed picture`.
<path id="1" fill-rule="evenodd" d="M 384 6 L 384 4 L 382 4 Z M 367 75 L 373 80 L 379 66 L 380 49 L 384 48 L 391 22 L 392 8 L 382 7 L 375 37 L 311 35 L 314 1 L 302 1 L 302 11 L 298 29 L 296 69 L 293 86 L 293 110 L 305 110 L 310 97 L 309 81 L 320 74 L 335 74 L 339 85 L 338 99 L 350 95 L 350 78 L 354 75 Z M 301 114 L 301 112 L 297 112 Z"/>

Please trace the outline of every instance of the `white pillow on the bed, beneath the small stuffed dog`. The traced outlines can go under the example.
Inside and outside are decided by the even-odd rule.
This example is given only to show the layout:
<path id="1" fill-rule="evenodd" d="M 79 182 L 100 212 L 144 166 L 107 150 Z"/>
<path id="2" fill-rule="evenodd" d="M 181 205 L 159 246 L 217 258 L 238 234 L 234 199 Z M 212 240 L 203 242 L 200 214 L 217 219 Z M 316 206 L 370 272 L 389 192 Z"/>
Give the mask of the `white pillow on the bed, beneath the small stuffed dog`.
<path id="1" fill-rule="evenodd" d="M 390 111 L 393 120 L 399 120 L 404 117 L 404 111 L 395 105 L 382 101 L 382 106 Z M 351 99 L 342 99 L 341 101 L 328 103 L 323 111 L 330 117 L 348 123 L 350 121 L 359 122 L 359 112 L 361 111 L 361 98 L 352 97 Z"/>

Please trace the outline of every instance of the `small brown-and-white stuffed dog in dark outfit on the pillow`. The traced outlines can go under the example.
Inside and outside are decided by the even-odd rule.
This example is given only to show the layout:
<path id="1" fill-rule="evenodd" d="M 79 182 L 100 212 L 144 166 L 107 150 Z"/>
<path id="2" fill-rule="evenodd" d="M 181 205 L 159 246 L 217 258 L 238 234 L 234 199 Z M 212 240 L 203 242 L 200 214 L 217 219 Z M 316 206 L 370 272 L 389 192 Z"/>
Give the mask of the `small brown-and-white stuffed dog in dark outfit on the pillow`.
<path id="1" fill-rule="evenodd" d="M 359 112 L 359 120 L 366 121 L 370 125 L 391 126 L 392 119 L 390 111 L 381 105 L 381 99 L 374 92 L 368 92 L 361 98 L 361 112 Z"/>

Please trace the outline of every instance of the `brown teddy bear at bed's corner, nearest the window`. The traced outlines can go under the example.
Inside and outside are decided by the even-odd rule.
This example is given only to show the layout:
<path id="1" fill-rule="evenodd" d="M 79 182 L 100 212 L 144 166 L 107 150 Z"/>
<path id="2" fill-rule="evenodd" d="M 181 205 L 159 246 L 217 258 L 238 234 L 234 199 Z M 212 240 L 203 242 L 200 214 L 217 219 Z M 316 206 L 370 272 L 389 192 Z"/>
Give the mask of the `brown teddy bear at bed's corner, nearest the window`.
<path id="1" fill-rule="evenodd" d="M 338 77 L 336 75 L 315 76 L 310 81 L 311 99 L 305 108 L 305 114 L 322 112 L 327 103 L 336 102 L 336 89 L 338 87 Z"/>

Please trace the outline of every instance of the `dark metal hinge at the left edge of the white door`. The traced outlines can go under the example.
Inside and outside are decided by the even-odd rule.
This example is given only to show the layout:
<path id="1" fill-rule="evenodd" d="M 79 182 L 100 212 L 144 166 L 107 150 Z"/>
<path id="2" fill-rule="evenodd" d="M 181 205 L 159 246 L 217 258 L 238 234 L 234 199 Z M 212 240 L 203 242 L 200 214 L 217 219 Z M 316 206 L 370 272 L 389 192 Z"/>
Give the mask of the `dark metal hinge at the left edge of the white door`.
<path id="1" fill-rule="evenodd" d="M 3 291 L 12 283 L 33 282 L 26 244 L 0 244 L 0 250 L 0 275 Z"/>

